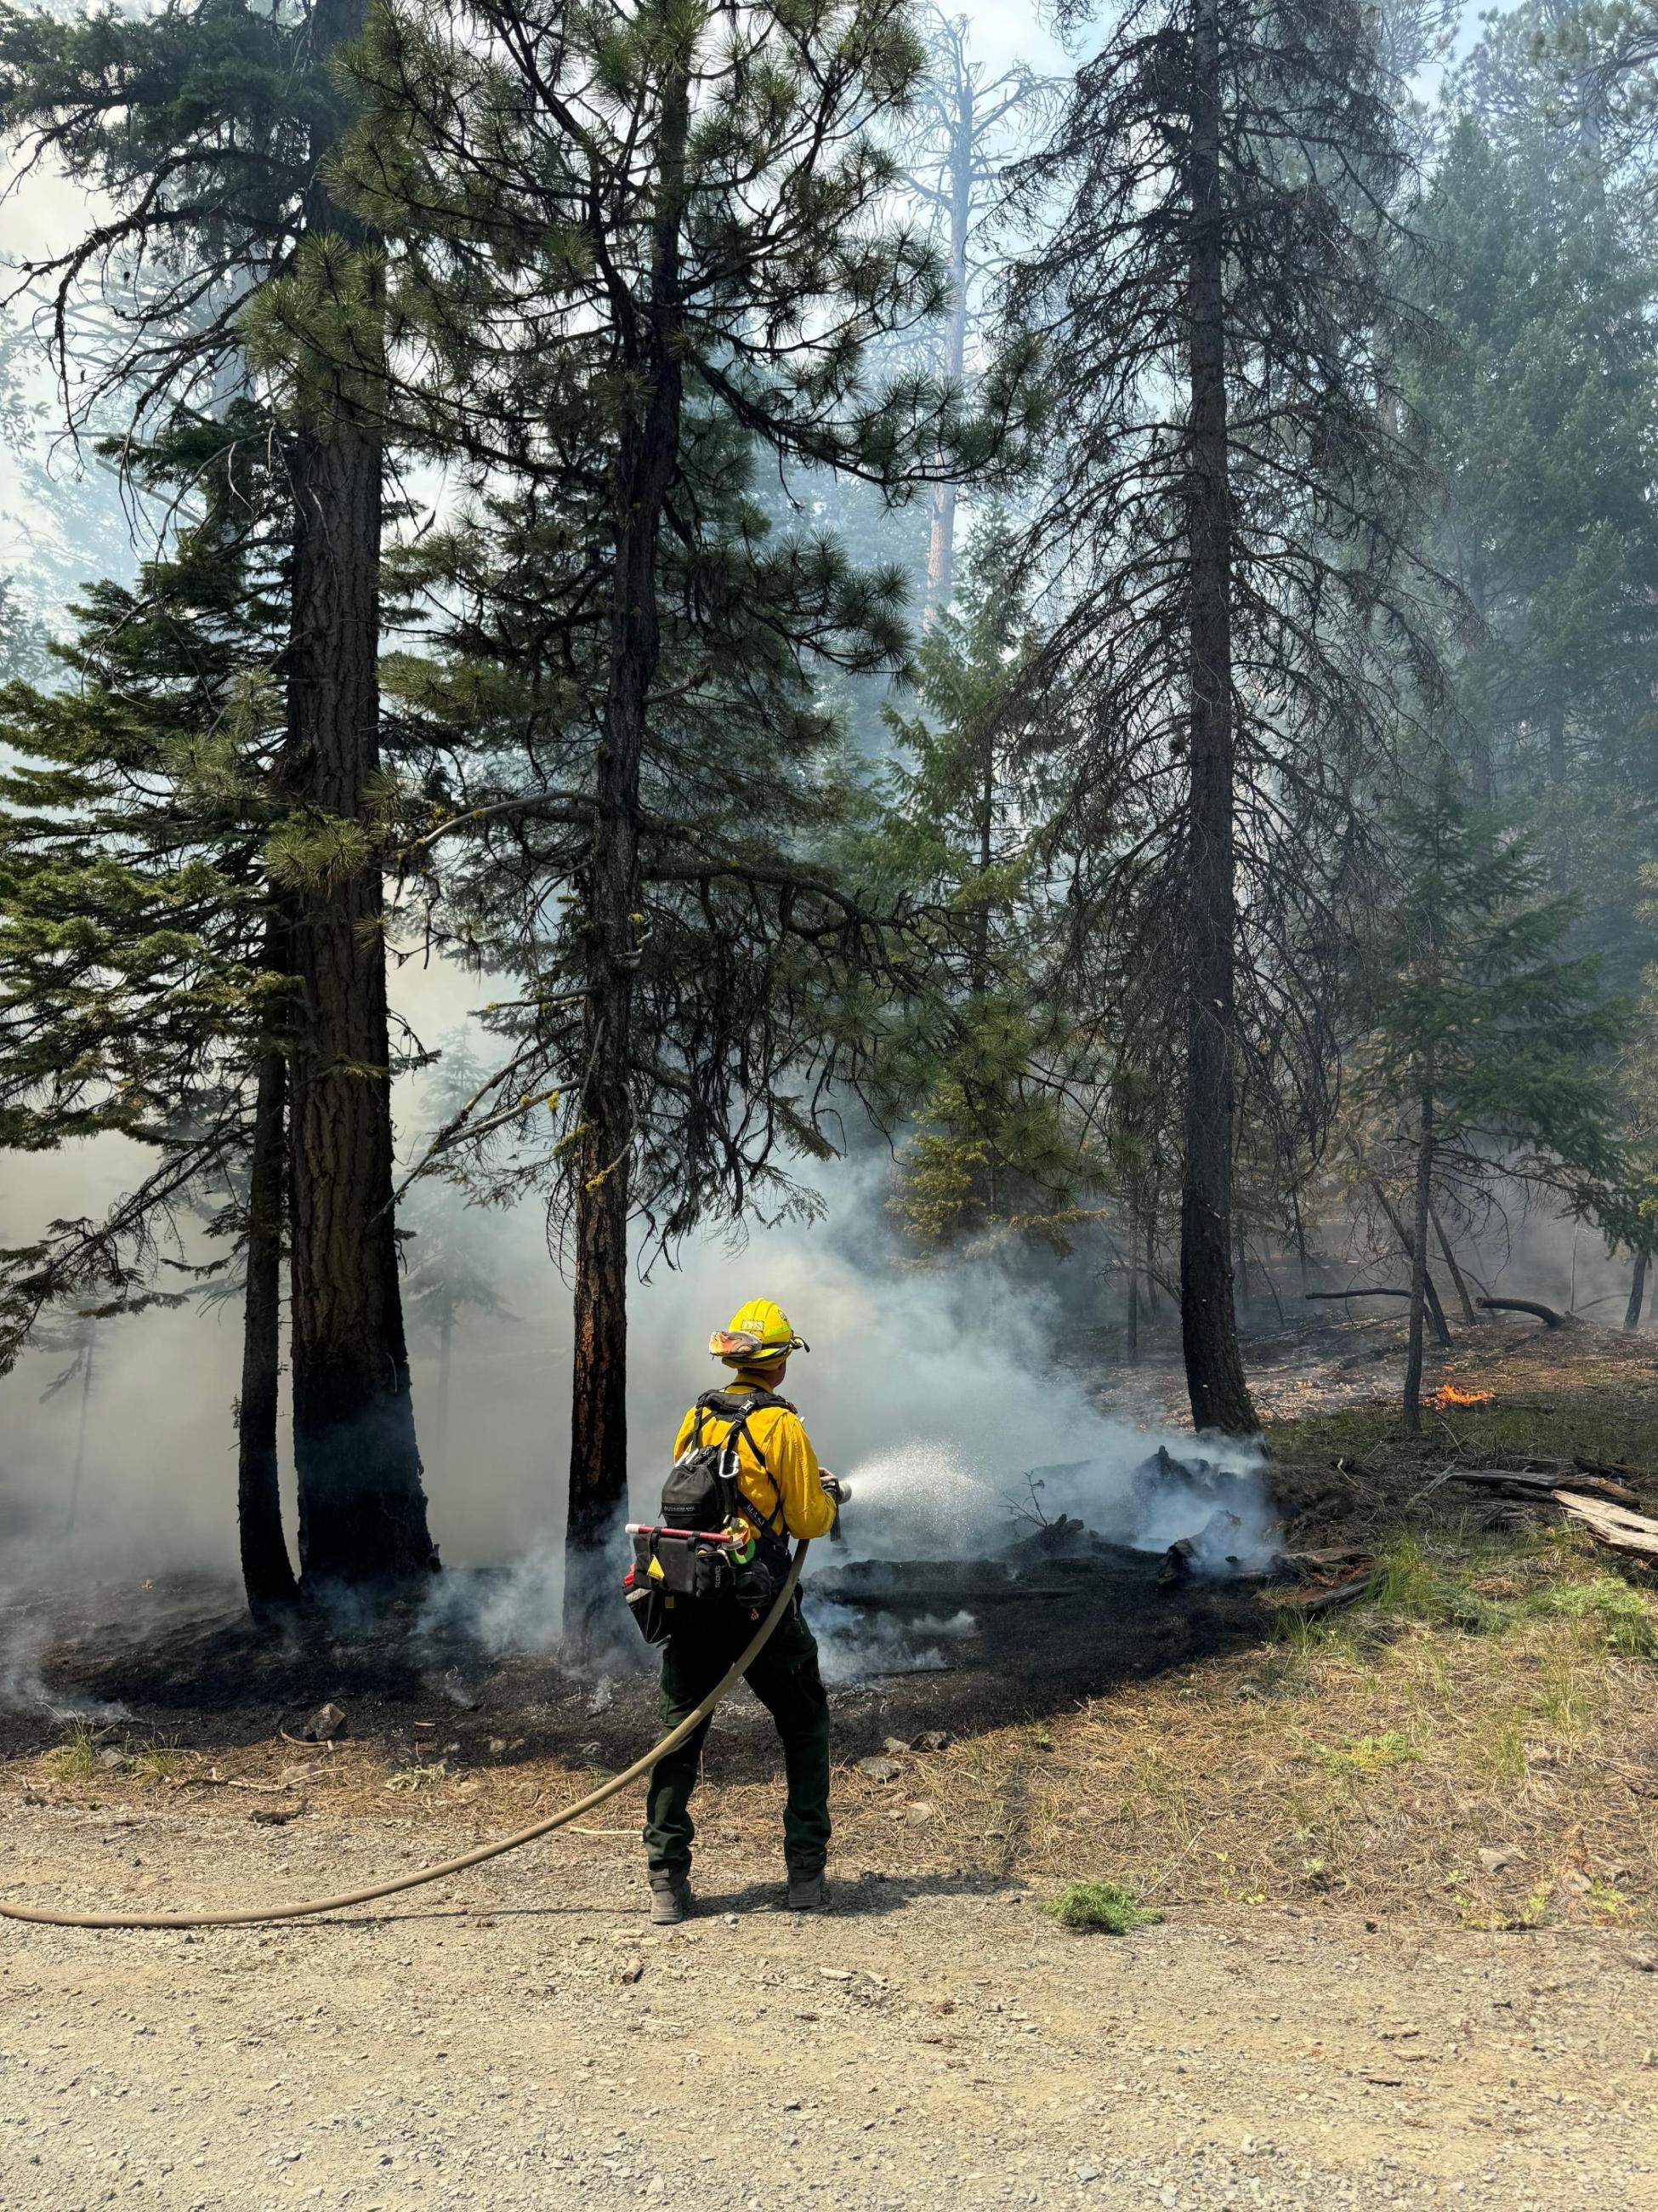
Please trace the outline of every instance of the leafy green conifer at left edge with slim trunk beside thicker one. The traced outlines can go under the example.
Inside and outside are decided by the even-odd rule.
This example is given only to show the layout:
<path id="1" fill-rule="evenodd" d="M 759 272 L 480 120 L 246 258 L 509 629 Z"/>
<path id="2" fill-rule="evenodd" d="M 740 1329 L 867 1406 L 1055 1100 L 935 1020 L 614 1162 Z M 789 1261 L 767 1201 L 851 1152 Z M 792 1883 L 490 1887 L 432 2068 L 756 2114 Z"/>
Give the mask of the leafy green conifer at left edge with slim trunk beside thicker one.
<path id="1" fill-rule="evenodd" d="M 292 1004 L 263 845 L 279 812 L 281 529 L 243 407 L 144 456 L 150 489 L 190 482 L 192 526 L 135 586 L 99 584 L 57 648 L 69 681 L 0 690 L 0 1144 L 117 1133 L 157 1166 L 106 1219 L 53 1223 L 4 1254 L 0 1365 L 64 1301 L 135 1312 L 172 1219 L 201 1206 L 219 1261 L 245 1263 L 239 1535 L 256 1615 L 292 1604 L 276 1491 L 285 1035 Z M 230 1206 L 223 1192 L 239 1192 Z"/>

